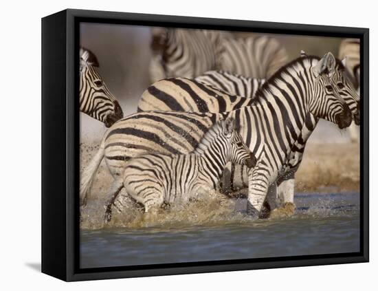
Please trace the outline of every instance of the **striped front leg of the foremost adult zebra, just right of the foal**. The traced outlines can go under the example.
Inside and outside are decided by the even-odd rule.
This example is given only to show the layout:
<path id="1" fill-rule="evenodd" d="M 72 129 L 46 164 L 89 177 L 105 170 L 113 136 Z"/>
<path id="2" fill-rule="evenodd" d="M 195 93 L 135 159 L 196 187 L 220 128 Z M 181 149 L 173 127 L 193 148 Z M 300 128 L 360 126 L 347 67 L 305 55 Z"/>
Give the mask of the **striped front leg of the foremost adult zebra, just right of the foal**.
<path id="1" fill-rule="evenodd" d="M 268 171 L 260 167 L 251 169 L 248 185 L 247 213 L 253 217 L 260 217 L 269 189 Z"/>

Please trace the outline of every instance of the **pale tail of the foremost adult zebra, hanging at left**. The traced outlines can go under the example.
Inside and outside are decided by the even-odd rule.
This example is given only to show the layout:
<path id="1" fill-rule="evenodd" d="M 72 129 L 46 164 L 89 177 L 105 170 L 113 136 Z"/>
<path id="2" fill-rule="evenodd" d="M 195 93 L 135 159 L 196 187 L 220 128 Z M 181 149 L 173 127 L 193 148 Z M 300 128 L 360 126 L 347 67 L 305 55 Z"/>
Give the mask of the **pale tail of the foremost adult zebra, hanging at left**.
<path id="1" fill-rule="evenodd" d="M 91 162 L 89 162 L 88 166 L 85 168 L 85 170 L 82 172 L 80 176 L 80 206 L 87 205 L 87 195 L 89 189 L 91 188 L 93 177 L 97 172 L 98 166 L 100 166 L 102 159 L 104 158 L 105 137 L 106 136 L 102 138 L 98 152 L 96 153 L 96 155 L 94 155 Z"/>

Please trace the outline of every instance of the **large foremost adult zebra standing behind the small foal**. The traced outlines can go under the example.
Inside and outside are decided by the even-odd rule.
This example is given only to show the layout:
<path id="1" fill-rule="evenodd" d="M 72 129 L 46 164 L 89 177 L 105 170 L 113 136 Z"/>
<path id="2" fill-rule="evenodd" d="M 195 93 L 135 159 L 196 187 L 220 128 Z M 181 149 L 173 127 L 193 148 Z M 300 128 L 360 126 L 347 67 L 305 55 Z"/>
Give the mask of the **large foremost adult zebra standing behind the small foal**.
<path id="1" fill-rule="evenodd" d="M 340 128 L 352 121 L 351 109 L 332 82 L 339 67 L 331 53 L 320 60 L 301 57 L 282 67 L 256 93 L 254 103 L 223 114 L 146 111 L 117 122 L 105 133 L 98 153 L 82 173 L 80 198 L 87 195 L 98 165 L 105 158 L 114 178 L 126 162 L 144 153 L 189 153 L 221 118 L 234 118 L 257 163 L 248 173 L 248 210 L 258 215 L 268 188 L 296 171 L 298 140 L 309 118 L 324 118 Z M 346 80 L 342 84 L 348 86 Z M 252 134 L 254 133 L 254 134 Z"/>

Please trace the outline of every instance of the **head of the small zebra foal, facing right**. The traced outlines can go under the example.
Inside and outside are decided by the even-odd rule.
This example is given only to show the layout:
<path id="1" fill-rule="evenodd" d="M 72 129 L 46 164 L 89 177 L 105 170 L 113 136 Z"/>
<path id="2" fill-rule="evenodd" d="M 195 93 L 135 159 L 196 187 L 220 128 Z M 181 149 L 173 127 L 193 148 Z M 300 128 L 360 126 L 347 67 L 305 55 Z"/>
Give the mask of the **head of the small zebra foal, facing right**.
<path id="1" fill-rule="evenodd" d="M 234 164 L 242 164 L 247 168 L 256 166 L 257 159 L 254 154 L 249 151 L 248 147 L 243 142 L 240 133 L 236 130 L 236 122 L 232 118 L 227 118 L 223 121 L 223 135 L 229 144 L 229 151 L 227 152 L 227 160 Z"/>

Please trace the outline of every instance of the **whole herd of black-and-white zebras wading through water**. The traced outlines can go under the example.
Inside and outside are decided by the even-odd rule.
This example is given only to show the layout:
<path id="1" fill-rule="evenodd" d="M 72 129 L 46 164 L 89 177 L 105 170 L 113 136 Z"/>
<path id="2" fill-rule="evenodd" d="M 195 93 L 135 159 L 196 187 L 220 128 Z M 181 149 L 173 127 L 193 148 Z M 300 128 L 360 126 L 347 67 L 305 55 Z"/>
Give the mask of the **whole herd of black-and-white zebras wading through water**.
<path id="1" fill-rule="evenodd" d="M 301 53 L 287 63 L 285 49 L 270 37 L 234 39 L 225 32 L 163 28 L 153 30 L 151 49 L 151 78 L 160 80 L 144 91 L 137 113 L 111 125 L 80 179 L 80 205 L 85 206 L 93 176 L 106 161 L 114 179 L 106 195 L 107 220 L 116 202 L 119 211 L 129 207 L 125 197 L 148 211 L 173 203 L 177 193 L 202 192 L 198 184 L 225 194 L 248 188 L 247 212 L 256 217 L 264 208 L 294 205 L 295 173 L 318 120 L 340 129 L 352 121 L 359 125 L 355 75 L 346 74 L 346 60 L 331 52 L 322 58 Z M 98 65 L 89 54 L 80 56 L 80 76 L 81 59 L 86 67 Z M 112 101 L 113 107 L 107 106 L 114 116 L 118 103 L 104 88 L 102 104 Z M 80 104 L 81 98 L 80 90 Z M 226 131 L 234 138 L 215 134 L 225 133 L 221 129 L 229 124 L 233 131 Z M 230 155 L 233 144 L 243 151 Z"/>

